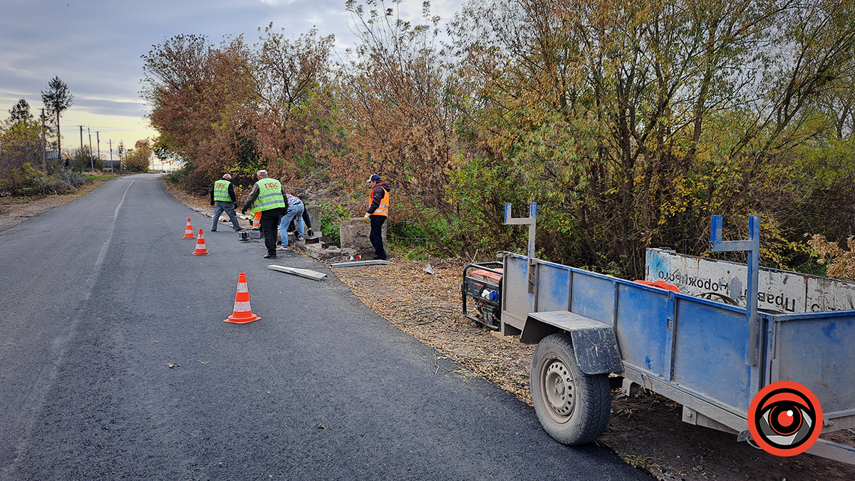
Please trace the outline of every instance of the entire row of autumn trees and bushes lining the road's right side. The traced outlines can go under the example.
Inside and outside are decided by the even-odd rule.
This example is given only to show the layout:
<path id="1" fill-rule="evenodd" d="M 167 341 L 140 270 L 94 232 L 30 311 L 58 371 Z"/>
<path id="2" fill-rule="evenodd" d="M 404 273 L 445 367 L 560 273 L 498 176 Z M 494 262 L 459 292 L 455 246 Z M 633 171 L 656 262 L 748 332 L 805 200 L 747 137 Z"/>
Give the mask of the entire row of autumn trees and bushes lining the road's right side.
<path id="1" fill-rule="evenodd" d="M 852 235 L 851 2 L 470 0 L 447 45 L 429 3 L 418 24 L 398 4 L 346 2 L 334 65 L 315 29 L 156 45 L 156 148 L 198 190 L 266 167 L 354 214 L 380 174 L 392 234 L 452 254 L 522 248 L 503 205 L 536 201 L 540 256 L 631 277 L 647 247 L 704 254 L 714 214 L 734 237 L 761 214 L 778 267 L 807 232 Z"/>

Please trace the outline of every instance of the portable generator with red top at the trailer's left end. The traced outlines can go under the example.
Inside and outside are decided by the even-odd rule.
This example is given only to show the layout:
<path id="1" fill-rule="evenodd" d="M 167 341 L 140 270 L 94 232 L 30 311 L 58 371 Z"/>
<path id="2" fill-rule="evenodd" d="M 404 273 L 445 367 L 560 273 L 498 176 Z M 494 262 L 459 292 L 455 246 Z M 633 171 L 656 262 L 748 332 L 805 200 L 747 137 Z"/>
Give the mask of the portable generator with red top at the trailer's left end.
<path id="1" fill-rule="evenodd" d="M 499 261 L 466 264 L 463 268 L 463 315 L 491 330 L 498 330 L 502 312 L 502 275 L 503 271 L 491 269 L 488 266 L 498 266 L 504 269 Z M 477 316 L 470 316 L 467 310 L 467 298 L 475 300 Z"/>

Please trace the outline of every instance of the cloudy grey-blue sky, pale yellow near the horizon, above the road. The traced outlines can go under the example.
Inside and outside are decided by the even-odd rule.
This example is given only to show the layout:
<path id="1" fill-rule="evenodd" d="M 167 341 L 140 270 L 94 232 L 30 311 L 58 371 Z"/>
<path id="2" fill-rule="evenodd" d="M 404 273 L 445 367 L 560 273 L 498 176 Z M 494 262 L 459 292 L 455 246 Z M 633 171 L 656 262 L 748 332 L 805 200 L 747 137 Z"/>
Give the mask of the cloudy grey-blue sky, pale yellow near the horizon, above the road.
<path id="1" fill-rule="evenodd" d="M 461 4 L 433 0 L 431 11 L 445 22 Z M 419 21 L 422 0 L 403 0 L 399 12 Z M 63 147 L 80 146 L 82 125 L 84 142 L 91 132 L 93 147 L 99 133 L 106 157 L 109 140 L 114 148 L 120 140 L 133 147 L 156 135 L 139 98 L 140 56 L 152 45 L 182 33 L 205 35 L 214 44 L 244 33 L 253 44 L 258 27 L 271 21 L 294 39 L 312 26 L 321 35 L 333 33 L 341 52 L 355 42 L 345 0 L 0 0 L 0 121 L 21 98 L 38 117 L 41 91 L 59 76 L 74 95 L 60 120 Z"/>

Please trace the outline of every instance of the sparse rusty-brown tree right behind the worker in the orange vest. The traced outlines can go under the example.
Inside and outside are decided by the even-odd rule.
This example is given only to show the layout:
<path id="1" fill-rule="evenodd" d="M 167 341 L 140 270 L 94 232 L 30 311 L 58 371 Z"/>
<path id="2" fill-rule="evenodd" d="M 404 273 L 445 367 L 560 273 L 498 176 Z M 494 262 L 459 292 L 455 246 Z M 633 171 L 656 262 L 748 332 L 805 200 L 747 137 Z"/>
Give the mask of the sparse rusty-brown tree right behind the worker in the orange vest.
<path id="1" fill-rule="evenodd" d="M 357 192 L 379 174 L 395 188 L 397 214 L 420 227 L 437 245 L 454 223 L 445 196 L 455 155 L 454 124 L 459 112 L 449 104 L 451 73 L 439 50 L 439 18 L 403 21 L 398 4 L 353 0 L 346 3 L 360 43 L 342 75 L 340 125 L 346 155 L 333 163 L 334 175 Z M 355 211 L 364 211 L 363 199 Z M 437 223 L 439 221 L 439 223 Z"/>

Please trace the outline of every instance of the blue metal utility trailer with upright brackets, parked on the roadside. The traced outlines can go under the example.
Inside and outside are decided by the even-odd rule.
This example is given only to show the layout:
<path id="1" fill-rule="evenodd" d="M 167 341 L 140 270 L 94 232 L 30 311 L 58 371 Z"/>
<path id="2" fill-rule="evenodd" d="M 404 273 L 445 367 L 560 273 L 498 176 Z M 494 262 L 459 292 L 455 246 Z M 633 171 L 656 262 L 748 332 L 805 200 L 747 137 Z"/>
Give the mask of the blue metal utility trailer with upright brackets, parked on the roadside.
<path id="1" fill-rule="evenodd" d="M 823 433 L 855 427 L 855 310 L 758 312 L 758 217 L 748 241 L 722 241 L 721 218 L 712 222 L 713 251 L 749 252 L 743 307 L 534 258 L 536 205 L 529 209 L 529 217 L 512 218 L 505 205 L 506 224 L 528 224 L 528 256 L 500 252 L 500 268 L 467 266 L 463 300 L 490 300 L 489 291 L 498 290 L 498 308 L 478 301 L 490 312 L 488 327 L 538 344 L 532 400 L 557 441 L 582 444 L 602 434 L 611 374 L 623 378 L 625 393 L 650 389 L 680 403 L 683 421 L 738 441 L 752 442 L 754 395 L 784 380 L 817 395 Z M 488 272 L 499 272 L 500 282 L 489 282 Z M 486 290 L 474 292 L 475 278 L 486 279 Z M 807 452 L 855 464 L 855 448 L 839 443 L 820 439 Z"/>

